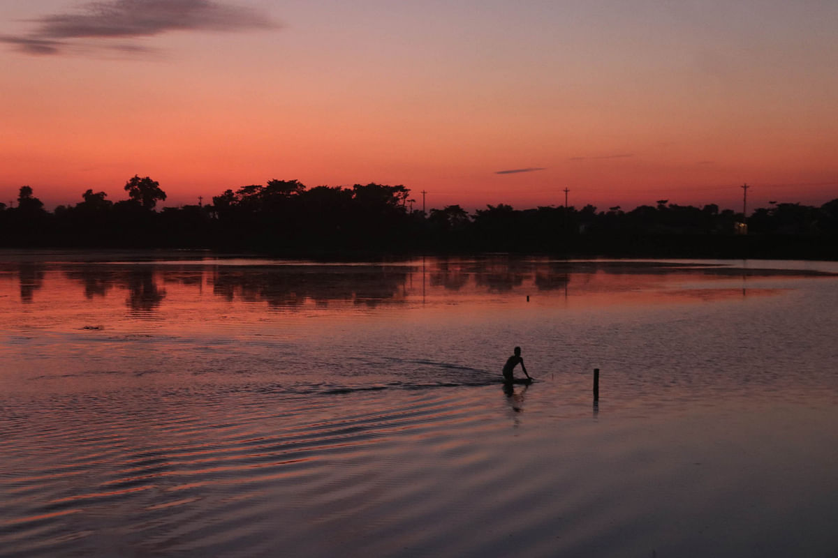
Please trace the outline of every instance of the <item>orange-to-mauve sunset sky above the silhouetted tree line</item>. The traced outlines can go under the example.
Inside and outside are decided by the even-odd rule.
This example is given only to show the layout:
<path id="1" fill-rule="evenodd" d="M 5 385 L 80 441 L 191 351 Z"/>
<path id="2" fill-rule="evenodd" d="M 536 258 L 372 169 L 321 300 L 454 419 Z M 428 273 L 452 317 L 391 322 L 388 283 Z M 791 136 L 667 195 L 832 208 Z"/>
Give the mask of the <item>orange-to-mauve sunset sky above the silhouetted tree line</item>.
<path id="1" fill-rule="evenodd" d="M 0 0 L 0 202 L 134 174 L 421 207 L 838 197 L 835 0 Z M 512 171 L 512 172 L 510 172 Z"/>

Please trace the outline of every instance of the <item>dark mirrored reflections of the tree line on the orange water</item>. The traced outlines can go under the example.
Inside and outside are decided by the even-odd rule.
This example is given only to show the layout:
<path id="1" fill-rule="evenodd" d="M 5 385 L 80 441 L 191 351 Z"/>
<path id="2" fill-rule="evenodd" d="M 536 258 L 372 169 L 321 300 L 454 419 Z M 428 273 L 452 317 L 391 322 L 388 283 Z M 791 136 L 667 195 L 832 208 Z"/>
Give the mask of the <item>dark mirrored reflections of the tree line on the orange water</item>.
<path id="1" fill-rule="evenodd" d="M 297 310 L 307 303 L 318 307 L 401 304 L 418 295 L 413 279 L 422 273 L 427 273 L 430 288 L 453 292 L 473 289 L 505 294 L 530 287 L 549 291 L 566 289 L 570 280 L 566 263 L 508 257 L 429 259 L 427 269 L 416 264 L 67 263 L 58 264 L 58 270 L 79 284 L 88 300 L 105 298 L 113 289 L 127 290 L 128 310 L 140 314 L 159 310 L 167 296 L 164 284 L 183 285 L 199 293 L 206 284 L 215 297 L 230 302 Z M 18 275 L 20 298 L 28 303 L 55 265 L 18 263 L 9 271 Z"/>

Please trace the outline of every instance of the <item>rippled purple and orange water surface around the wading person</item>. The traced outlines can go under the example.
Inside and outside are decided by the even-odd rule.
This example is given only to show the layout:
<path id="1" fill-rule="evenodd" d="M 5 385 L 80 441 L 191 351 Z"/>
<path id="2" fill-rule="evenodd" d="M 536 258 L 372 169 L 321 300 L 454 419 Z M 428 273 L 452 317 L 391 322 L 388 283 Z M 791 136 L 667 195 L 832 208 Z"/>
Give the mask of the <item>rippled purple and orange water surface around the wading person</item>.
<path id="1" fill-rule="evenodd" d="M 838 555 L 830 272 L 0 253 L 0 555 Z"/>

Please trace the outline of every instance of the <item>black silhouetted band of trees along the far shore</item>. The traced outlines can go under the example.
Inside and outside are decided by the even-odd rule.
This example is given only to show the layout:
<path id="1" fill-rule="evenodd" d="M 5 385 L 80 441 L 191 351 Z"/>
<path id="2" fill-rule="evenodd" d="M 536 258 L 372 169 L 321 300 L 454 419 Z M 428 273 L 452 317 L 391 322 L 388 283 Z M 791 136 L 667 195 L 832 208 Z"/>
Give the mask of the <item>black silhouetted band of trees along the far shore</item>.
<path id="1" fill-rule="evenodd" d="M 163 207 L 166 193 L 132 177 L 128 199 L 87 190 L 54 212 L 31 187 L 0 203 L 3 248 L 208 248 L 284 257 L 417 253 L 552 253 L 567 257 L 838 259 L 838 199 L 821 207 L 773 203 L 742 212 L 668 200 L 631 211 L 587 205 L 469 214 L 452 205 L 412 210 L 403 186 L 307 188 L 296 180 L 227 190 L 211 204 Z M 742 223 L 747 223 L 747 233 Z"/>

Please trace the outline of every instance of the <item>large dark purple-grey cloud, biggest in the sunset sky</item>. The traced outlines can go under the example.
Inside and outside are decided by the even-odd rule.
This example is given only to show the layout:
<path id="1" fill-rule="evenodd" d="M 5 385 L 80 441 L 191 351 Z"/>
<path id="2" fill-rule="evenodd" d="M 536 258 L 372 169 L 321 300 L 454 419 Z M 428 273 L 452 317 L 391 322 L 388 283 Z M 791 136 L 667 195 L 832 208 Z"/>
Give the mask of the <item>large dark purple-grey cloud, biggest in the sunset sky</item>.
<path id="1" fill-rule="evenodd" d="M 153 37 L 173 31 L 247 31 L 277 28 L 266 14 L 253 8 L 212 0 L 108 0 L 87 3 L 75 13 L 56 13 L 34 19 L 32 33 L 0 37 L 26 54 L 65 54 L 79 41 L 102 43 L 109 49 L 142 52 L 144 47 L 124 39 Z M 121 39 L 111 45 L 109 39 Z"/>

